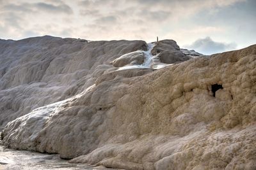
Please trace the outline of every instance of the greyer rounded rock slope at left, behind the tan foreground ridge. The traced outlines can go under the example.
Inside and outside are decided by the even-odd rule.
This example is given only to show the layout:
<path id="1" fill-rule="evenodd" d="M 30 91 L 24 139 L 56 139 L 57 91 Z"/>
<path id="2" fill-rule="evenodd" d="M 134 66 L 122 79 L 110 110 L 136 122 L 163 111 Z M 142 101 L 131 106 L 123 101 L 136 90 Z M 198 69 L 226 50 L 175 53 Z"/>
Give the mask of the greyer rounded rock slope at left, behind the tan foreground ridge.
<path id="1" fill-rule="evenodd" d="M 44 36 L 0 41 L 0 127 L 79 94 L 111 61 L 145 48 L 145 41 L 92 41 Z"/>

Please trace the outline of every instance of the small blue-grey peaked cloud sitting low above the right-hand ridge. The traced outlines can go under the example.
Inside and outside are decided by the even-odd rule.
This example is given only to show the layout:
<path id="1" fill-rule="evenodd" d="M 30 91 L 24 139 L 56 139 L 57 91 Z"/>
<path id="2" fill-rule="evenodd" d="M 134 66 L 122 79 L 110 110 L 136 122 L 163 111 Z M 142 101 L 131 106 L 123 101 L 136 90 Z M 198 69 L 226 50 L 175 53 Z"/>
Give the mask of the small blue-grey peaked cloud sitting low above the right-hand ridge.
<path id="1" fill-rule="evenodd" d="M 228 50 L 235 50 L 237 45 L 236 43 L 221 43 L 213 41 L 209 36 L 197 39 L 191 45 L 185 46 L 186 48 L 196 50 L 200 53 L 204 53 L 206 55 L 211 55 L 212 53 L 220 53 Z"/>

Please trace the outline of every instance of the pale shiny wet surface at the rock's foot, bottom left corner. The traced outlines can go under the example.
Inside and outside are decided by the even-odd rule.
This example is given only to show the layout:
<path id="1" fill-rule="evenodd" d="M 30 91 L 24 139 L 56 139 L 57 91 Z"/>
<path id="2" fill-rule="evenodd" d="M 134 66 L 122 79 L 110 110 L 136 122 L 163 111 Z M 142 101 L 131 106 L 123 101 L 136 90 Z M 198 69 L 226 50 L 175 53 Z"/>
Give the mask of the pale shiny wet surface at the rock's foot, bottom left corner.
<path id="1" fill-rule="evenodd" d="M 29 151 L 12 150 L 1 145 L 0 141 L 0 169 L 24 169 L 24 170 L 117 170 L 107 169 L 103 166 L 90 166 L 86 164 L 72 164 L 68 160 L 60 159 L 59 155 L 36 153 Z"/>

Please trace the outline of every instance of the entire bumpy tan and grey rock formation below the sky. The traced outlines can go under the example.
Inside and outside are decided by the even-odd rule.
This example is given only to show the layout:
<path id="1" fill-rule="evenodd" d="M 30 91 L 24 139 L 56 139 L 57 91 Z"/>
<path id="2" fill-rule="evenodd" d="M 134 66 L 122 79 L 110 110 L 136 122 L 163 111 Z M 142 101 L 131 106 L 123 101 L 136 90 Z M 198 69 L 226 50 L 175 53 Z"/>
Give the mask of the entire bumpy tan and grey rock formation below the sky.
<path id="1" fill-rule="evenodd" d="M 256 169 L 256 45 L 191 59 L 164 40 L 141 67 L 124 55 L 144 41 L 0 43 L 6 146 L 113 168 Z"/>

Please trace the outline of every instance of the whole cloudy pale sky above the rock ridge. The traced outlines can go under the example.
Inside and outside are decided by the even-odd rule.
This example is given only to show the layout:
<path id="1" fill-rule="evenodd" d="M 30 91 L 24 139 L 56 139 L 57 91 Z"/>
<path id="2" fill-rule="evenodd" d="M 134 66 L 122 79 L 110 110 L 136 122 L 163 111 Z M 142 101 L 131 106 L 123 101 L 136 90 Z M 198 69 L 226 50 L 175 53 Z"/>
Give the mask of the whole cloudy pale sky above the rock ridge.
<path id="1" fill-rule="evenodd" d="M 0 39 L 173 39 L 211 54 L 256 43 L 256 0 L 0 0 Z"/>

